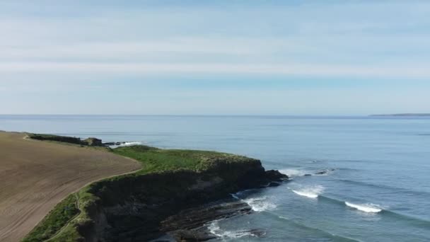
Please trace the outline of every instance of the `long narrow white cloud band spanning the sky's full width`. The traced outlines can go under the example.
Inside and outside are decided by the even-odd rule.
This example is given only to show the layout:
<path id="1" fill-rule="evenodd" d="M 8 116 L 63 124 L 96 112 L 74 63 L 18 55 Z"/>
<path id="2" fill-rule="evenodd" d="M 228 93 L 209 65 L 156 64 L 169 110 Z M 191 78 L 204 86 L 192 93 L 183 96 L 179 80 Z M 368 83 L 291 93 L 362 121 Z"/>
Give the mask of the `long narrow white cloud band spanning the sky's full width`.
<path id="1" fill-rule="evenodd" d="M 286 74 L 302 76 L 350 76 L 430 78 L 429 66 L 348 66 L 324 64 L 151 64 L 98 62 L 8 62 L 0 73 L 26 74 Z"/>

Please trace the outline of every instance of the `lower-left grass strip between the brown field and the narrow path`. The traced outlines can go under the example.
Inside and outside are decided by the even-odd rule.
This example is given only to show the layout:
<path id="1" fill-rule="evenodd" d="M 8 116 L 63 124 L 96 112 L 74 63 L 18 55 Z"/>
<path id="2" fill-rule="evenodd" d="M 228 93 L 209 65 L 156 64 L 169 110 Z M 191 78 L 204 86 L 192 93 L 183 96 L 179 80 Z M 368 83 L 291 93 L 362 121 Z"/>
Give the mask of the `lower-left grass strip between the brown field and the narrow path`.
<path id="1" fill-rule="evenodd" d="M 79 209 L 76 207 L 76 195 L 71 194 L 57 204 L 23 241 L 40 242 L 51 238 L 78 213 Z"/>

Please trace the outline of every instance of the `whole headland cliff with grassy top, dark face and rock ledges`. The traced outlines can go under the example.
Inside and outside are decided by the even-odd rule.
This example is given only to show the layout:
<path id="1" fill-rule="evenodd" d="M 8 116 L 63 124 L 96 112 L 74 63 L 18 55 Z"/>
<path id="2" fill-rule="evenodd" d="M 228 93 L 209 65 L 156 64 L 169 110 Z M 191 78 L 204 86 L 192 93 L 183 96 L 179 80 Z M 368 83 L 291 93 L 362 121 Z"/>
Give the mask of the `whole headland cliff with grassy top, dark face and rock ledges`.
<path id="1" fill-rule="evenodd" d="M 277 171 L 265 171 L 257 159 L 214 151 L 149 146 L 111 151 L 141 161 L 144 168 L 77 192 L 80 213 L 49 241 L 149 241 L 166 233 L 177 241 L 204 241 L 210 236 L 196 235 L 190 229 L 211 219 L 250 212 L 240 203 L 229 204 L 228 209 L 205 204 L 239 190 L 278 185 L 288 178 Z M 193 207 L 199 211 L 184 212 Z M 50 215 L 47 217 L 45 221 L 50 220 Z M 43 222 L 39 227 L 47 228 Z"/>

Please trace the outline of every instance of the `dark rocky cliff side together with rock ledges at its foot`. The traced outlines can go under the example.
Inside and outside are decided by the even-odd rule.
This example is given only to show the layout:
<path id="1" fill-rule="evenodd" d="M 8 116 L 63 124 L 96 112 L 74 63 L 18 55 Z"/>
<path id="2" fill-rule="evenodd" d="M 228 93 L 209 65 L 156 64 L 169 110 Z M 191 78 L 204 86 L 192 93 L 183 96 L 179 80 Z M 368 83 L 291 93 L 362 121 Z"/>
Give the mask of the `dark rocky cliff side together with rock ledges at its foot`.
<path id="1" fill-rule="evenodd" d="M 244 202 L 226 200 L 231 193 L 279 185 L 288 179 L 278 171 L 265 171 L 260 161 L 254 165 L 219 167 L 204 173 L 150 174 L 138 180 L 127 179 L 125 183 L 123 180 L 122 184 L 103 184 L 95 191 L 101 199 L 90 212 L 93 223 L 82 226 L 80 231 L 85 241 L 150 241 L 165 234 L 175 241 L 215 238 L 202 225 L 252 212 Z M 233 179 L 226 176 L 232 171 L 237 175 Z M 135 189 L 124 192 L 129 182 L 134 183 Z"/>

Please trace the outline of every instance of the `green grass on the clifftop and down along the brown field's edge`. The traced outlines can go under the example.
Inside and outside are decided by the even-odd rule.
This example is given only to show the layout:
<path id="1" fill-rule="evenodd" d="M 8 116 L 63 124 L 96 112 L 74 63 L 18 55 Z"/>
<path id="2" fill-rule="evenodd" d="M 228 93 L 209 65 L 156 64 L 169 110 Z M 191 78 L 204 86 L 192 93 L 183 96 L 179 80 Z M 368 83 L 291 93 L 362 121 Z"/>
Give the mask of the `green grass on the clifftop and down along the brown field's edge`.
<path id="1" fill-rule="evenodd" d="M 124 146 L 116 149 L 109 149 L 112 153 L 120 156 L 126 156 L 142 163 L 142 169 L 136 173 L 128 175 L 119 175 L 113 178 L 107 178 L 96 183 L 87 185 L 79 190 L 79 208 L 81 213 L 76 216 L 79 209 L 70 209 L 72 204 L 76 202 L 75 195 L 70 195 L 65 200 L 57 204 L 50 214 L 33 229 L 33 231 L 25 237 L 23 241 L 45 241 L 51 238 L 57 231 L 62 229 L 61 233 L 54 236 L 49 241 L 76 241 L 81 236 L 77 231 L 77 226 L 82 224 L 91 224 L 91 217 L 88 212 L 94 207 L 100 197 L 95 195 L 98 190 L 103 188 L 106 182 L 115 182 L 124 180 L 124 178 L 139 178 L 141 175 L 149 173 L 159 173 L 163 171 L 207 171 L 219 161 L 224 163 L 242 163 L 249 162 L 245 156 L 237 156 L 233 154 L 225 154 L 215 151 L 193 151 L 193 150 L 178 150 L 178 149 L 157 149 L 150 146 Z M 76 217 L 75 217 L 76 216 Z M 75 217 L 75 218 L 74 218 Z M 71 222 L 69 220 L 72 219 Z M 69 224 L 67 224 L 69 222 Z M 67 225 L 66 225 L 67 224 Z M 64 225 L 66 225 L 64 227 Z M 64 227 L 64 228 L 63 228 Z"/>

